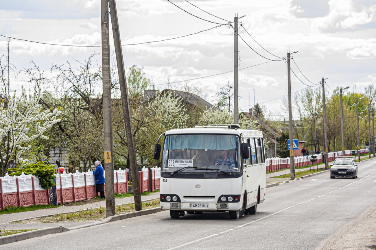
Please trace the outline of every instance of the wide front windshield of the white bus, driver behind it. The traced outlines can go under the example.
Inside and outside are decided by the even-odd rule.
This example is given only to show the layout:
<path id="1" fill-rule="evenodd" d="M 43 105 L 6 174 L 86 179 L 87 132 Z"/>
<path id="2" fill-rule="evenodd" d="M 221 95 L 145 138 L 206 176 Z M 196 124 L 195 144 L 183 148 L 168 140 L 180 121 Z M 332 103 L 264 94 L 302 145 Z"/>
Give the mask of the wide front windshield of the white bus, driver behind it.
<path id="1" fill-rule="evenodd" d="M 236 135 L 167 135 L 163 149 L 162 171 L 240 172 L 239 140 Z M 184 168 L 184 169 L 183 169 Z M 212 170 L 210 170 L 212 169 Z"/>

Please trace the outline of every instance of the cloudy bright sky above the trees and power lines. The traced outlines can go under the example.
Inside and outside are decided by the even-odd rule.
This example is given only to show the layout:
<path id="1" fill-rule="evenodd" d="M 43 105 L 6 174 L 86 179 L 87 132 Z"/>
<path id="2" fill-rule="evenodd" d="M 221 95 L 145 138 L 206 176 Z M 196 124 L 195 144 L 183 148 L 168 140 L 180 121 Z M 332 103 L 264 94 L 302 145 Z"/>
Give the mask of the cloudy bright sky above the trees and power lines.
<path id="1" fill-rule="evenodd" d="M 200 18 L 226 23 L 185 0 L 171 0 Z M 220 18 L 233 21 L 235 14 L 258 43 L 277 57 L 298 51 L 294 60 L 312 82 L 328 78 L 330 88 L 350 86 L 364 92 L 376 83 L 376 1 L 372 0 L 191 0 L 191 3 Z M 203 21 L 178 9 L 167 0 L 118 0 L 123 44 L 148 42 L 196 33 L 217 24 Z M 100 45 L 100 0 L 0 0 L 0 34 L 38 42 L 70 45 Z M 263 50 L 243 28 L 240 35 L 259 54 L 278 59 Z M 253 52 L 241 39 L 240 68 L 269 60 Z M 29 68 L 34 61 L 49 72 L 53 64 L 74 59 L 83 61 L 100 48 L 74 48 L 11 39 L 11 63 L 17 70 Z M 170 82 L 215 75 L 233 70 L 233 29 L 226 26 L 165 42 L 123 46 L 126 66 L 143 66 L 158 88 Z M 0 37 L 0 55 L 6 54 L 5 37 Z M 100 55 L 96 57 L 100 63 Z M 306 84 L 296 66 L 291 68 Z M 52 73 L 53 74 L 53 73 Z M 293 91 L 305 88 L 293 74 Z M 209 102 L 233 73 L 191 80 L 207 94 Z M 11 89 L 25 85 L 11 75 Z M 179 85 L 176 85 L 179 87 Z M 28 87 L 28 86 L 27 86 Z M 267 105 L 279 111 L 287 95 L 287 63 L 270 61 L 239 71 L 239 106 L 248 109 L 248 93 L 253 105 Z M 330 91 L 330 90 L 329 90 Z M 276 100 L 273 100 L 276 99 Z M 270 101 L 272 100 L 272 101 Z"/>

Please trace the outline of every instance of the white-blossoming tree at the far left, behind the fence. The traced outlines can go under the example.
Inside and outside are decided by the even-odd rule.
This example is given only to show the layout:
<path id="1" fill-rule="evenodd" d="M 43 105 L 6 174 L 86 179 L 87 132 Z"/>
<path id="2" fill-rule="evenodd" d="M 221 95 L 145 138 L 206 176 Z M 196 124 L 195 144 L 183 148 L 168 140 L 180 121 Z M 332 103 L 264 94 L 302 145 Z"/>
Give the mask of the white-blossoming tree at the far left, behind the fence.
<path id="1" fill-rule="evenodd" d="M 0 103 L 0 159 L 2 173 L 11 159 L 15 163 L 24 162 L 32 141 L 38 137 L 48 139 L 44 132 L 58 123 L 61 111 L 43 109 L 40 104 L 40 89 L 30 91 L 22 88 L 21 95 L 14 95 Z"/>

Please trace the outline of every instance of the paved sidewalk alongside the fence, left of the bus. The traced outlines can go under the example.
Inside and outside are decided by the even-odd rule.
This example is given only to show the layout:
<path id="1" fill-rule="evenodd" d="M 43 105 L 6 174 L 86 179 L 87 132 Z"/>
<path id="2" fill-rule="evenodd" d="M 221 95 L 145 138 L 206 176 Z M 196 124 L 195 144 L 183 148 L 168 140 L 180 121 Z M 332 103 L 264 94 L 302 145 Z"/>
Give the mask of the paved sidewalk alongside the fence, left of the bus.
<path id="1" fill-rule="evenodd" d="M 155 199 L 155 198 L 159 198 L 159 193 L 156 193 L 153 195 L 141 196 L 142 201 Z M 126 203 L 131 203 L 131 202 L 134 202 L 133 196 L 115 199 L 116 205 L 126 204 Z M 90 208 L 97 208 L 97 207 L 106 207 L 106 201 L 103 200 L 103 201 L 88 203 L 84 205 L 61 206 L 57 208 L 47 208 L 47 209 L 27 211 L 27 212 L 22 212 L 22 213 L 2 214 L 0 215 L 0 225 L 2 225 L 1 227 L 3 227 L 5 226 L 6 223 L 9 223 L 14 220 L 21 220 L 21 219 L 30 218 L 30 217 L 44 216 L 44 215 L 50 215 L 50 214 L 56 214 L 56 213 L 59 214 L 62 212 L 77 211 L 77 210 L 80 210 L 80 208 L 86 210 L 86 208 L 90 209 Z M 85 224 L 85 223 L 82 223 L 82 224 Z M 39 228 L 45 228 L 45 227 L 46 226 L 41 226 Z"/>

